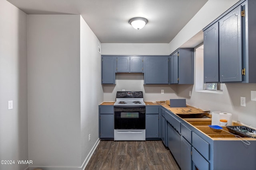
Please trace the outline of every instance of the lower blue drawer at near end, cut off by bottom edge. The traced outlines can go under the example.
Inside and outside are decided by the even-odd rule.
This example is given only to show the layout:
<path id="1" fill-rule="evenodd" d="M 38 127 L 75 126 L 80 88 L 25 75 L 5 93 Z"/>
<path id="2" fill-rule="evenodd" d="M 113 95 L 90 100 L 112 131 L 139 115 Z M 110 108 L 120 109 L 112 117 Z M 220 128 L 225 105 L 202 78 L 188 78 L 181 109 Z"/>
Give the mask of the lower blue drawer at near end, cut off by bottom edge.
<path id="1" fill-rule="evenodd" d="M 194 147 L 192 147 L 192 162 L 193 166 L 196 166 L 199 170 L 210 170 L 210 163 Z"/>

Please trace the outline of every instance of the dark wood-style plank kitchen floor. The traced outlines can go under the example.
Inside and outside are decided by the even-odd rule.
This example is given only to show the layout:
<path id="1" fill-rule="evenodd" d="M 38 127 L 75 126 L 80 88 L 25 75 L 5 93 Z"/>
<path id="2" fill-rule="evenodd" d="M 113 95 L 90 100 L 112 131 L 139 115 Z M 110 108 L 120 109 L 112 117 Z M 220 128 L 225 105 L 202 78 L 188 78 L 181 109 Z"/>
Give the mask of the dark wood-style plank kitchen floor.
<path id="1" fill-rule="evenodd" d="M 100 141 L 85 170 L 180 170 L 162 141 Z"/>

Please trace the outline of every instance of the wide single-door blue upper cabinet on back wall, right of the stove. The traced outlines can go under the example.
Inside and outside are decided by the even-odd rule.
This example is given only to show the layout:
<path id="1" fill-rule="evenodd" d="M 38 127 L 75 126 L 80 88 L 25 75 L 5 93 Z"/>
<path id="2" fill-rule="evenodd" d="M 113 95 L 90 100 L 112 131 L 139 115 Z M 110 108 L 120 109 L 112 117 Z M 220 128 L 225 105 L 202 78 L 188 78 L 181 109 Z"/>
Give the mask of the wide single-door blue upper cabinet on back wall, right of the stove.
<path id="1" fill-rule="evenodd" d="M 144 84 L 168 84 L 169 56 L 145 56 Z"/>

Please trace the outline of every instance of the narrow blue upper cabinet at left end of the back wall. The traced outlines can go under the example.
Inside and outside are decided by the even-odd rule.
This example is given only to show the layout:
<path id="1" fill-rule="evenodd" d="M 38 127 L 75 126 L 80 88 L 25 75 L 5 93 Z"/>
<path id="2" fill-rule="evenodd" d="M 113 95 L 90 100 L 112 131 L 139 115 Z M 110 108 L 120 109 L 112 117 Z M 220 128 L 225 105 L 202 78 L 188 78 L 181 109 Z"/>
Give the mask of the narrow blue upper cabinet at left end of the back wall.
<path id="1" fill-rule="evenodd" d="M 116 57 L 102 55 L 102 84 L 116 84 Z"/>

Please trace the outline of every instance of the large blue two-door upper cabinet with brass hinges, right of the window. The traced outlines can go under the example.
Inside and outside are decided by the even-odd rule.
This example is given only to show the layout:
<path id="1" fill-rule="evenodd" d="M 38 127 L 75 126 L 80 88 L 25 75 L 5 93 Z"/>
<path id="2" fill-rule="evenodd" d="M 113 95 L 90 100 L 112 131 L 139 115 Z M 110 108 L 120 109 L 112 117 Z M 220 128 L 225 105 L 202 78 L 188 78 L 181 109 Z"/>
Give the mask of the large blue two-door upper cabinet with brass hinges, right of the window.
<path id="1" fill-rule="evenodd" d="M 204 31 L 204 82 L 256 83 L 256 3 L 241 0 Z"/>

